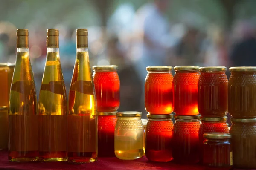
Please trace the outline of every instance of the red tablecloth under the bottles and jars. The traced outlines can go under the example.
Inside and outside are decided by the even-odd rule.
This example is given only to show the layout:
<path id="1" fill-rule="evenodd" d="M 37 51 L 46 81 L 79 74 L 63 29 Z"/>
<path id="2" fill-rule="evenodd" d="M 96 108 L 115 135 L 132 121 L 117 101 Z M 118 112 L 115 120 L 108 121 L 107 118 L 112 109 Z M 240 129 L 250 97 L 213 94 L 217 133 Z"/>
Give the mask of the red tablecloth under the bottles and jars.
<path id="1" fill-rule="evenodd" d="M 88 164 L 68 164 L 67 162 L 9 162 L 7 152 L 0 151 L 1 170 L 206 170 L 200 165 L 179 165 L 173 162 L 156 163 L 143 158 L 125 161 L 118 158 L 98 158 L 98 161 Z"/>

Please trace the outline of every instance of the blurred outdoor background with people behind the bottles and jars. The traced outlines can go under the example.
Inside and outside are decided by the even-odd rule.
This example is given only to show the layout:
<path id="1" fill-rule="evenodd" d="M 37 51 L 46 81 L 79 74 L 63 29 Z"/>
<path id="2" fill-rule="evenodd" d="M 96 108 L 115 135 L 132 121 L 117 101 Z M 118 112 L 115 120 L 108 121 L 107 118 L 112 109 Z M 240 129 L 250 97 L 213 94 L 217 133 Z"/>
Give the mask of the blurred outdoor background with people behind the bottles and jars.
<path id="1" fill-rule="evenodd" d="M 255 6 L 256 0 L 0 0 L 0 62 L 15 63 L 16 29 L 29 29 L 39 95 L 46 32 L 59 29 L 68 95 L 76 29 L 87 28 L 91 66 L 119 66 L 119 111 L 145 117 L 146 66 L 256 65 Z"/>

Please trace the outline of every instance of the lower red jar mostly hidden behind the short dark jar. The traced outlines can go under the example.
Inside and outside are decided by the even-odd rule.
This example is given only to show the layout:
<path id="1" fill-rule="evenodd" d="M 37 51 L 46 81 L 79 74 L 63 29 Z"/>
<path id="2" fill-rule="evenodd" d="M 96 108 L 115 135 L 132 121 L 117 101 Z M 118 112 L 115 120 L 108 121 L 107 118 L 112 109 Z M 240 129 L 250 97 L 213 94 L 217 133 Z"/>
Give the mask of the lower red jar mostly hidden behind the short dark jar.
<path id="1" fill-rule="evenodd" d="M 227 126 L 227 116 L 222 118 L 201 118 L 201 125 L 199 128 L 199 151 L 200 151 L 200 162 L 203 161 L 203 143 L 204 133 L 218 132 L 218 133 L 229 133 Z"/>

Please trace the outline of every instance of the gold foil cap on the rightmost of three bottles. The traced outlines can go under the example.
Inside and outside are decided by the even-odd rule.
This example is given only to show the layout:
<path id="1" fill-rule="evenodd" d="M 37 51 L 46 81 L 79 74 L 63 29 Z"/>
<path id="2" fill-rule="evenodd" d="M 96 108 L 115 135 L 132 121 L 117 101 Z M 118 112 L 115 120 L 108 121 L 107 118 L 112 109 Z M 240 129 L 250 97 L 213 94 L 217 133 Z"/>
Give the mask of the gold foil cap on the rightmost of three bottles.
<path id="1" fill-rule="evenodd" d="M 76 29 L 76 48 L 88 48 L 87 29 Z"/>

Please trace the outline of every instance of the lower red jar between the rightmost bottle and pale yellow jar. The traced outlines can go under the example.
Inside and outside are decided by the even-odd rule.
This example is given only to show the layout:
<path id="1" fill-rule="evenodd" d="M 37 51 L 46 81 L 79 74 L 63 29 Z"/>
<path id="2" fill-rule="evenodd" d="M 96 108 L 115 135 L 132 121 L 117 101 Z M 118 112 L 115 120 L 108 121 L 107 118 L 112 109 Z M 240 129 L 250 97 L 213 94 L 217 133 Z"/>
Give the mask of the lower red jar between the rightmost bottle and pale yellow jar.
<path id="1" fill-rule="evenodd" d="M 115 156 L 116 112 L 98 112 L 98 156 Z"/>

